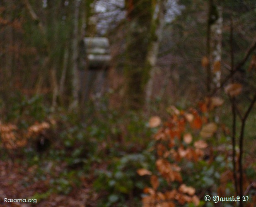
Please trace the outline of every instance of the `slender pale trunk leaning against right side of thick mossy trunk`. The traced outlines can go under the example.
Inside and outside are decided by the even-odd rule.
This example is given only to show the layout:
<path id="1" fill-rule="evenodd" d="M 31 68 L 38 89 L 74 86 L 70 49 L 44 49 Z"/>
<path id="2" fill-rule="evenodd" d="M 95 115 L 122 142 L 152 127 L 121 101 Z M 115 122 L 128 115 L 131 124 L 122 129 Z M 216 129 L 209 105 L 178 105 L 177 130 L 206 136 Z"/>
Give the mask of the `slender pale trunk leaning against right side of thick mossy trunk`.
<path id="1" fill-rule="evenodd" d="M 146 67 L 149 67 L 150 78 L 146 87 L 146 108 L 150 112 L 150 101 L 152 96 L 153 78 L 155 75 L 155 65 L 157 63 L 157 55 L 159 52 L 159 44 L 162 39 L 162 32 L 164 27 L 164 14 L 165 14 L 166 0 L 158 0 L 154 7 L 154 15 L 151 23 L 151 39 L 150 46 L 147 52 Z"/>

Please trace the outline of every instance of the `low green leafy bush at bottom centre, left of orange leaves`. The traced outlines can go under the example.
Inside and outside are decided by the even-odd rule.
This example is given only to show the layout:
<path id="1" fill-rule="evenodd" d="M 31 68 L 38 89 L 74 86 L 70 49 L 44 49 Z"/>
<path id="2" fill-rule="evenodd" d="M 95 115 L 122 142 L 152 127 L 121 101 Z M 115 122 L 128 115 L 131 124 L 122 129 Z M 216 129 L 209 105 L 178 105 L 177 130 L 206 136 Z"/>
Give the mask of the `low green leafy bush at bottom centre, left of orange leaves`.
<path id="1" fill-rule="evenodd" d="M 107 192 L 99 206 L 125 206 L 127 200 L 139 200 L 147 180 L 142 179 L 136 170 L 152 168 L 155 157 L 149 152 L 124 155 L 113 158 L 108 171 L 97 171 L 98 178 L 94 181 L 95 190 Z"/>

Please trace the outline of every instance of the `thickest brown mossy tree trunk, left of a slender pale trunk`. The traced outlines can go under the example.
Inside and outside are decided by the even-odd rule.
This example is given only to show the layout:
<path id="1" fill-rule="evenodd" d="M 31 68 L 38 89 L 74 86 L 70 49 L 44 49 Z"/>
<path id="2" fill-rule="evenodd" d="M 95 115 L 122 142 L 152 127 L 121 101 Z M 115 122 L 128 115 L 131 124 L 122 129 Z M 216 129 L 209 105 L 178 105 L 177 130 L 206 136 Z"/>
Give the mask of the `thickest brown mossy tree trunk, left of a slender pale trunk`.
<path id="1" fill-rule="evenodd" d="M 152 0 L 126 0 L 126 106 L 138 110 L 145 100 L 150 70 L 145 67 L 150 45 Z"/>

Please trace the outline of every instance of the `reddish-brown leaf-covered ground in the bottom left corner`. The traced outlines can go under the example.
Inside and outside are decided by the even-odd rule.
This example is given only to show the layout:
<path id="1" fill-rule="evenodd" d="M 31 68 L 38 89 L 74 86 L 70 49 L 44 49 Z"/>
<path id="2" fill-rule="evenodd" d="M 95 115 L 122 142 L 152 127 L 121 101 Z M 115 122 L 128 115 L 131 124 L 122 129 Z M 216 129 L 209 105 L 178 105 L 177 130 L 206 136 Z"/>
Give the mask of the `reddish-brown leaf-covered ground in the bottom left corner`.
<path id="1" fill-rule="evenodd" d="M 51 207 L 51 206 L 69 206 L 83 207 L 95 206 L 97 193 L 92 191 L 92 181 L 89 179 L 81 179 L 81 186 L 74 186 L 68 195 L 59 195 L 49 192 L 49 182 L 51 177 L 46 175 L 44 181 L 36 181 L 34 178 L 37 166 L 27 167 L 10 161 L 0 161 L 0 206 L 3 207 Z M 33 198 L 35 194 L 47 196 L 46 199 L 37 199 L 37 203 L 33 202 L 4 202 L 7 199 L 24 199 Z"/>

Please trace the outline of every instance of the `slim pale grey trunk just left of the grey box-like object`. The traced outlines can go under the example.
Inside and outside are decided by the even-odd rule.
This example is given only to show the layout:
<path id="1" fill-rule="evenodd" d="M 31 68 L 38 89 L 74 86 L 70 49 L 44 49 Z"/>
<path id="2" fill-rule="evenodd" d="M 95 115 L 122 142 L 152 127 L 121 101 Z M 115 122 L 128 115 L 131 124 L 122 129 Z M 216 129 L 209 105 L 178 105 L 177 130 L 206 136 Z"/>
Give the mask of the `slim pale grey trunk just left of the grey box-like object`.
<path id="1" fill-rule="evenodd" d="M 75 8 L 74 8 L 74 33 L 73 33 L 73 43 L 72 43 L 72 103 L 70 104 L 69 110 L 75 110 L 78 109 L 79 104 L 79 88 L 80 88 L 80 82 L 79 82 L 79 76 L 78 76 L 78 64 L 77 64 L 77 58 L 78 58 L 78 21 L 79 21 L 79 5 L 80 0 L 75 0 Z"/>

